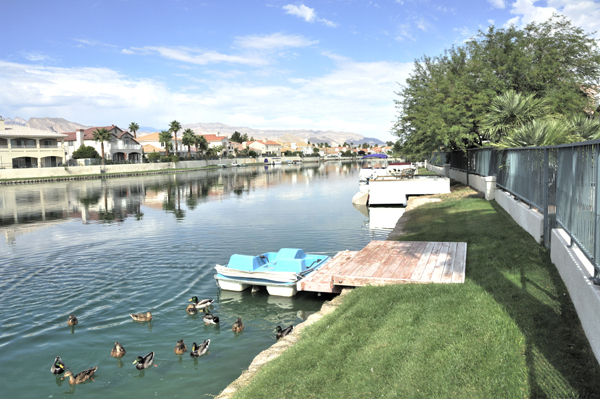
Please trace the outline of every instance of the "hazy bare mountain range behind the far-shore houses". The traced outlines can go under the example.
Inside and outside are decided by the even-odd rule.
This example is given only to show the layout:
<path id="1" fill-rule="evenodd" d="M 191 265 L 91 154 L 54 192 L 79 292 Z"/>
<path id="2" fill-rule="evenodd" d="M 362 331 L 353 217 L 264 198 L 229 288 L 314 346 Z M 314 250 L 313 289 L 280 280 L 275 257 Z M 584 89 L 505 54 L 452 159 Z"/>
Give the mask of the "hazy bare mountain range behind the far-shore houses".
<path id="1" fill-rule="evenodd" d="M 76 122 L 70 122 L 63 118 L 30 118 L 26 121 L 23 118 L 6 118 L 5 123 L 7 125 L 21 125 L 28 126 L 35 129 L 51 130 L 56 133 L 72 132 L 76 129 L 85 129 L 90 126 L 82 125 Z M 181 125 L 183 130 L 192 129 L 196 134 L 216 134 L 219 133 L 223 136 L 231 137 L 234 132 L 240 132 L 241 134 L 247 134 L 249 138 L 254 137 L 255 140 L 276 140 L 282 142 L 298 142 L 298 141 L 310 141 L 311 143 L 329 143 L 332 146 L 347 143 L 363 144 L 368 143 L 371 145 L 385 144 L 383 141 L 365 137 L 358 133 L 351 132 L 338 132 L 333 130 L 307 130 L 307 129 L 291 129 L 291 130 L 265 130 L 265 129 L 253 129 L 249 127 L 235 127 L 228 126 L 222 123 L 189 123 Z M 127 126 L 122 126 L 121 129 L 126 130 Z M 162 129 L 155 129 L 149 126 L 142 126 L 137 132 L 139 136 L 145 134 L 157 132 Z M 181 133 L 180 133 L 181 134 Z"/>

